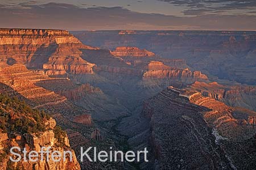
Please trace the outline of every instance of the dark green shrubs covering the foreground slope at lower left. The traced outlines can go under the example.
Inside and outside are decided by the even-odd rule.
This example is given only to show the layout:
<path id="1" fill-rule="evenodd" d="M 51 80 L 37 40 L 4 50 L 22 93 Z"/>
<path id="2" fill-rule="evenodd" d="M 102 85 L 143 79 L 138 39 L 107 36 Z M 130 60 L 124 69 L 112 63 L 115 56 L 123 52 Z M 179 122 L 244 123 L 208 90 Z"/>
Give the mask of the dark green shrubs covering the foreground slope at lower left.
<path id="1" fill-rule="evenodd" d="M 38 133 L 45 131 L 44 121 L 49 115 L 44 111 L 32 109 L 18 97 L 0 94 L 0 129 L 12 133 Z"/>

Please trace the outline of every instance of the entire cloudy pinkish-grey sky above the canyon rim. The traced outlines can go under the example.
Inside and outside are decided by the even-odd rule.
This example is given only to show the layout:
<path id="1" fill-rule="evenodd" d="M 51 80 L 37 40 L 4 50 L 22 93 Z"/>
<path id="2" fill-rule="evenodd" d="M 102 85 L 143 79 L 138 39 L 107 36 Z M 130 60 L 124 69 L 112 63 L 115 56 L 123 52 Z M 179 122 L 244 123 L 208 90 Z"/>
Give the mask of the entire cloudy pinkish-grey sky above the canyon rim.
<path id="1" fill-rule="evenodd" d="M 255 31 L 255 0 L 1 0 L 1 28 Z"/>

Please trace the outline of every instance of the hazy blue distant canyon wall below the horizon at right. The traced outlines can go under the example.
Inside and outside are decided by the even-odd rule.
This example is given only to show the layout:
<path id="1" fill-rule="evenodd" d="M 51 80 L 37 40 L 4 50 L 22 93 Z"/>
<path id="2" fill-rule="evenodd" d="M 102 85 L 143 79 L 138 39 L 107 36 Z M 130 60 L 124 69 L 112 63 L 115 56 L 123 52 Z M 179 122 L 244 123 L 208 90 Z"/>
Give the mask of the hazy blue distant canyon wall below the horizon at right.
<path id="1" fill-rule="evenodd" d="M 163 58 L 185 59 L 189 68 L 220 79 L 256 84 L 254 31 L 72 32 L 83 43 L 115 49 L 137 46 Z M 121 35 L 119 35 L 121 33 Z M 166 64 L 166 63 L 165 63 Z"/>

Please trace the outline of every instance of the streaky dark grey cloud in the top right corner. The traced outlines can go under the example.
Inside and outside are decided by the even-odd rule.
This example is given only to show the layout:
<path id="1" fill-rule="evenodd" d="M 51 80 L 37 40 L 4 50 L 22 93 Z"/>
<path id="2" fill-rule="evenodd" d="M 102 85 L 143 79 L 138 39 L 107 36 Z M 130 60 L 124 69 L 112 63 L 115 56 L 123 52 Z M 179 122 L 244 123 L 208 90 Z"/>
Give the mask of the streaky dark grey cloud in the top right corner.
<path id="1" fill-rule="evenodd" d="M 255 0 L 158 0 L 162 2 L 168 2 L 176 6 L 187 7 L 183 11 L 185 15 L 204 15 L 229 12 L 235 14 L 237 10 L 243 10 L 243 14 L 250 14 L 251 10 L 255 10 Z"/>

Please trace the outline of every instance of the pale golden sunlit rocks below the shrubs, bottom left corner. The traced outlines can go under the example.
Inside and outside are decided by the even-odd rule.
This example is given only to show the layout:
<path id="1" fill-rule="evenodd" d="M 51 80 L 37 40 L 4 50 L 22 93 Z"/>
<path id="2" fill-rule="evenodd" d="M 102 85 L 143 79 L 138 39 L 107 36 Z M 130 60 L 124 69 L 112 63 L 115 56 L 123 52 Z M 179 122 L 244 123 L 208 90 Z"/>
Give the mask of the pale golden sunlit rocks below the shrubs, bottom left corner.
<path id="1" fill-rule="evenodd" d="M 38 162 L 25 162 L 22 161 L 19 163 L 11 163 L 10 160 L 3 159 L 0 160 L 0 165 L 1 168 L 3 170 L 5 169 L 15 169 L 15 168 L 22 168 L 22 169 L 38 169 L 38 170 L 46 170 L 46 169 L 56 169 L 56 170 L 60 170 L 60 169 L 72 169 L 72 170 L 79 170 L 80 169 L 80 165 L 77 162 L 76 156 L 75 156 L 75 152 L 73 150 L 71 150 L 71 148 L 69 147 L 69 143 L 67 142 L 67 147 L 61 148 L 55 145 L 55 143 L 53 141 L 56 141 L 56 139 L 54 138 L 54 133 L 52 131 L 48 131 L 43 133 L 42 135 L 40 135 L 40 137 L 35 137 L 34 135 L 30 135 L 30 137 L 28 137 L 28 135 L 26 136 L 26 141 L 24 140 L 16 140 L 16 139 L 10 139 L 7 138 L 5 141 L 2 141 L 3 143 L 6 143 L 6 141 L 10 141 L 12 140 L 10 143 L 10 145 L 12 146 L 17 146 L 20 148 L 26 147 L 26 150 L 28 152 L 30 152 L 31 150 L 33 151 L 40 151 L 40 147 L 47 147 L 47 146 L 51 146 L 51 152 L 49 154 L 52 154 L 53 151 L 59 151 L 60 154 L 63 155 L 64 151 L 71 151 L 72 152 L 72 161 L 69 160 L 69 155 L 67 155 L 65 161 L 61 161 L 61 162 L 54 162 L 51 158 L 51 156 L 49 157 L 49 160 L 47 161 L 46 158 L 43 158 L 43 161 L 38 161 Z M 30 141 L 31 140 L 31 141 Z M 34 142 L 33 144 L 30 142 Z M 49 145 L 49 143 L 47 142 L 53 142 L 51 143 L 51 145 Z M 37 143 L 37 144 L 36 144 Z M 35 148 L 33 148 L 35 147 Z M 21 154 L 22 155 L 22 154 Z M 10 155 L 13 156 L 13 155 Z M 41 158 L 39 158 L 41 159 Z M 64 158 L 62 158 L 64 159 Z"/>

